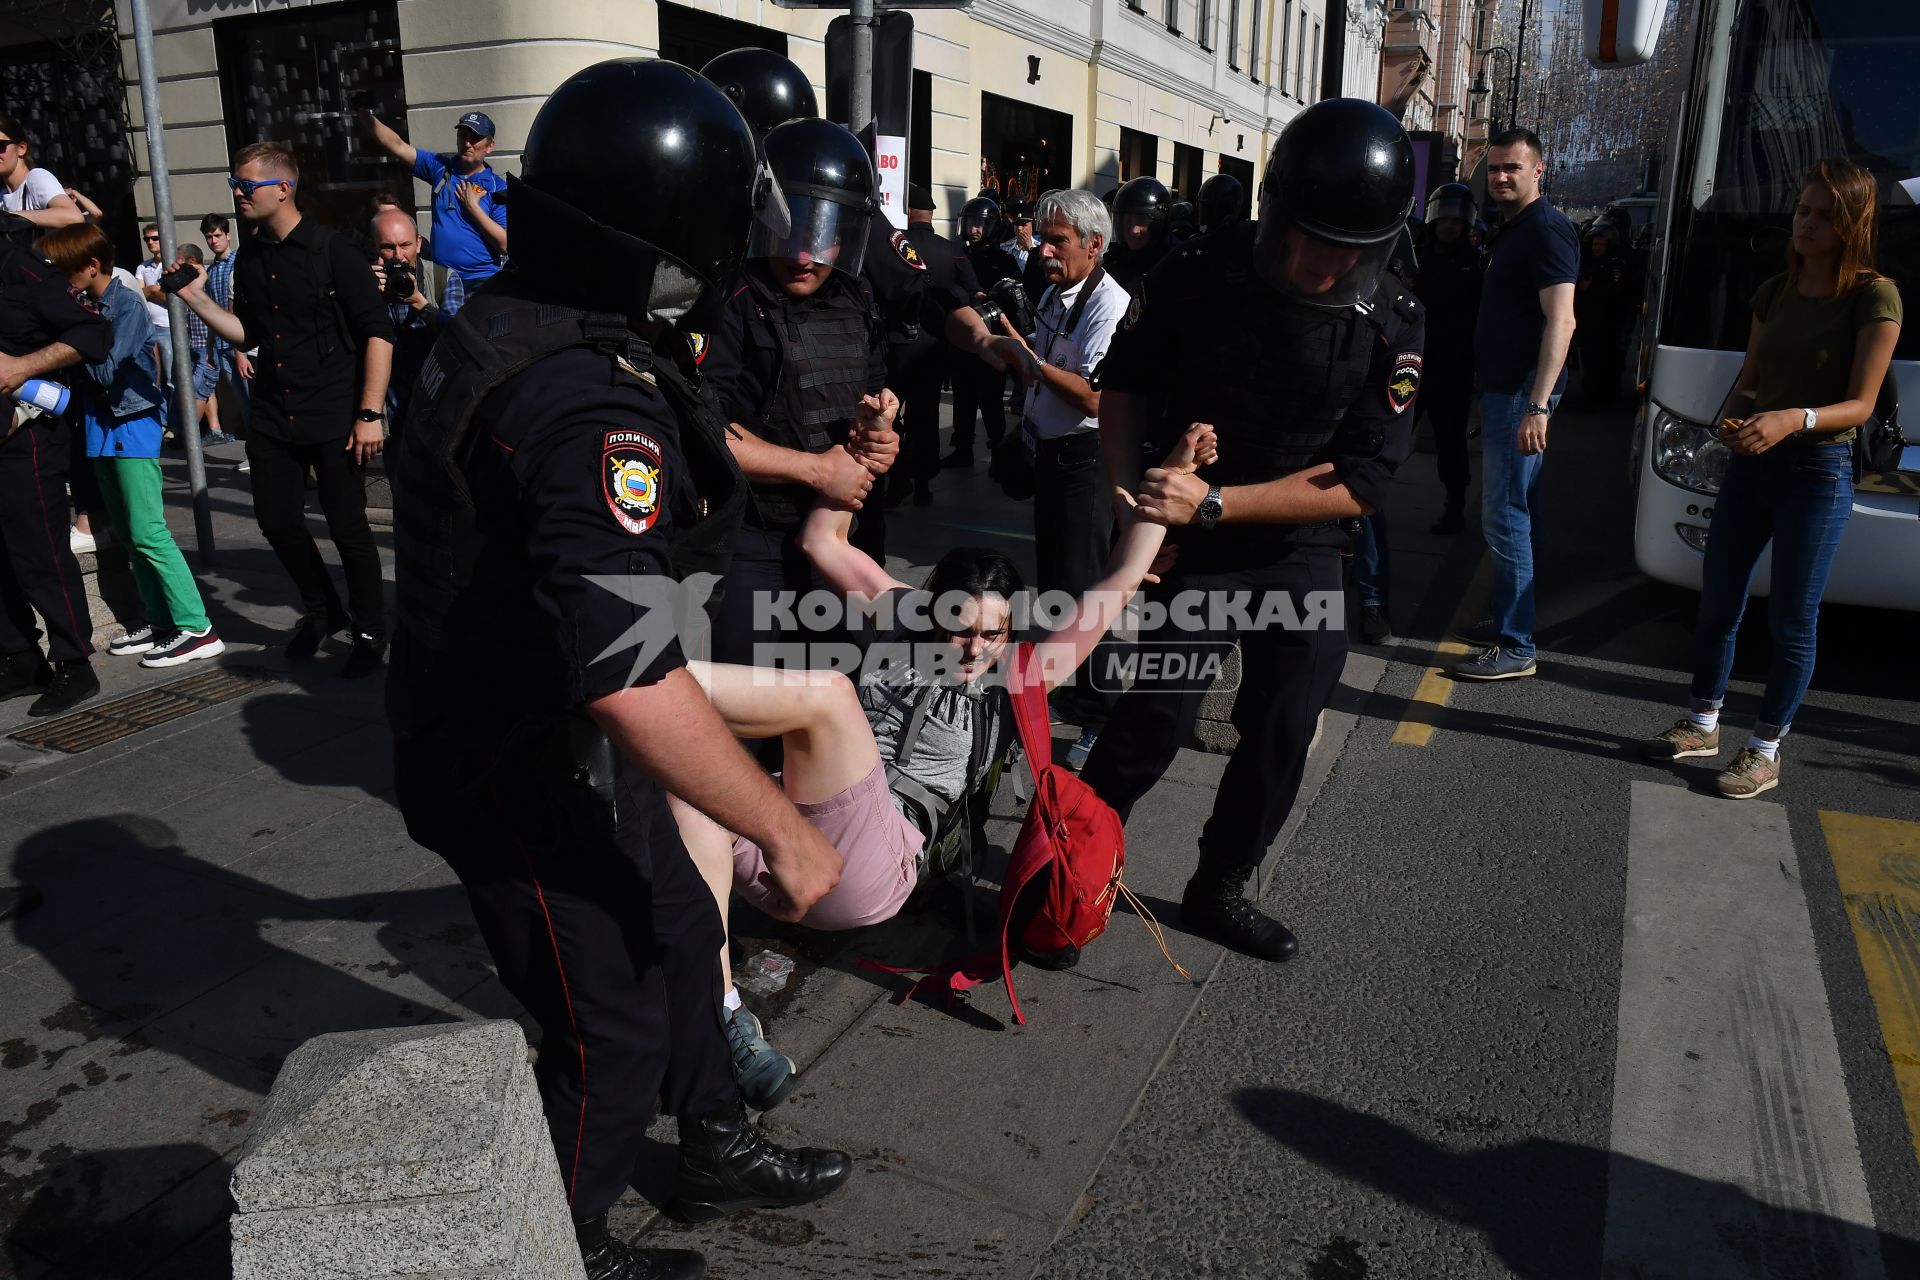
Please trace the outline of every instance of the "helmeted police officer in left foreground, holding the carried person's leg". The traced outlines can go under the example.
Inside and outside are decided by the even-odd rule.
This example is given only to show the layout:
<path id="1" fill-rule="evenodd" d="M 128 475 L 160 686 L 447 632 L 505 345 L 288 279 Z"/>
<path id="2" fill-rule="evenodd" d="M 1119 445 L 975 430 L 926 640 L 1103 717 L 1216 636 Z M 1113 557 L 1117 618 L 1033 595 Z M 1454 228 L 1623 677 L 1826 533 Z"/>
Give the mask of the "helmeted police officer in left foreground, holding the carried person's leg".
<path id="1" fill-rule="evenodd" d="M 710 324 L 749 225 L 785 217 L 739 113 L 668 61 L 570 77 L 522 169 L 513 265 L 436 344 L 390 461 L 396 787 L 541 1025 L 536 1079 L 586 1274 L 697 1278 L 699 1255 L 607 1232 L 657 1102 L 680 1119 L 682 1219 L 806 1203 L 851 1171 L 749 1123 L 720 915 L 666 806 L 672 791 L 774 841 L 787 915 L 839 877 L 676 637 L 676 603 L 724 570 L 743 503 L 685 330 Z M 707 578 L 676 581 L 691 574 Z"/>

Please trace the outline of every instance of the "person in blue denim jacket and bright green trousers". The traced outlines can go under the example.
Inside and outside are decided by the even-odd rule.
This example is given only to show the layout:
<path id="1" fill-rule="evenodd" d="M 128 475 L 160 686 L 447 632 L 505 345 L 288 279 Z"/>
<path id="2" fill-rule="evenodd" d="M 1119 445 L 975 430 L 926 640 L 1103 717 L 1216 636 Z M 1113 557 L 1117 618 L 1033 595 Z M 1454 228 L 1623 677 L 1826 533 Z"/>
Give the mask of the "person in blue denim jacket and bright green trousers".
<path id="1" fill-rule="evenodd" d="M 108 649 L 144 654 L 140 666 L 179 666 L 225 652 L 186 557 L 167 532 L 159 489 L 167 411 L 146 301 L 113 278 L 113 242 L 94 223 L 61 226 L 36 244 L 113 324 L 113 349 L 98 365 L 86 365 L 88 376 L 77 391 L 86 418 L 86 457 L 100 478 L 113 532 L 127 547 L 146 622 L 129 626 Z"/>

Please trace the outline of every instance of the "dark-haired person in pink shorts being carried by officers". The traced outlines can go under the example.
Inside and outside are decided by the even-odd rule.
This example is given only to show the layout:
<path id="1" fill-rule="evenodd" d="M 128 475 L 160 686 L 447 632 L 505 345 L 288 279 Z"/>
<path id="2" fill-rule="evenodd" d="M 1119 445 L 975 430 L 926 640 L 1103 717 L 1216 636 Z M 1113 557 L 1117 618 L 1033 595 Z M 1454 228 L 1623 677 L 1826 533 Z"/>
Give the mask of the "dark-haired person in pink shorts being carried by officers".
<path id="1" fill-rule="evenodd" d="M 1194 470 L 1215 457 L 1213 432 L 1194 426 L 1165 468 Z M 801 919 L 810 929 L 891 919 L 920 883 L 960 865 L 972 841 L 970 800 L 991 794 L 1016 739 L 1006 681 L 987 679 L 1008 674 L 1016 652 L 1021 580 L 1014 564 L 995 551 L 956 547 L 914 589 L 852 547 L 849 528 L 845 510 L 816 507 L 801 549 L 847 599 L 849 618 L 870 620 L 852 628 L 870 674 L 856 683 L 837 672 L 687 662 L 732 733 L 781 739 L 781 789 L 841 854 L 839 883 Z M 1164 541 L 1165 526 L 1137 514 L 1106 576 L 1043 641 L 1023 647 L 1025 679 L 1050 691 L 1079 670 L 1140 583 L 1158 581 Z M 758 846 L 687 804 L 672 800 L 672 808 L 722 923 L 733 892 L 762 910 L 780 906 Z M 741 1092 L 749 1105 L 772 1107 L 793 1088 L 793 1061 L 766 1042 L 741 1004 L 724 948 L 720 975 Z"/>

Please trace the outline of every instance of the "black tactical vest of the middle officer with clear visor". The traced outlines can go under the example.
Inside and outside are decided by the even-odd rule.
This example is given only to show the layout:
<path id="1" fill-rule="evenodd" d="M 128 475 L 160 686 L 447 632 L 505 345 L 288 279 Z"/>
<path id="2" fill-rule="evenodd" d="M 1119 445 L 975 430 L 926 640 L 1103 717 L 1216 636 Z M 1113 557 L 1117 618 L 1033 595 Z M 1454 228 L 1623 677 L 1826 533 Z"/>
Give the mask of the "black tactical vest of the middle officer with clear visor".
<path id="1" fill-rule="evenodd" d="M 747 288 L 760 309 L 780 368 L 760 407 L 764 439 L 783 449 L 826 453 L 845 441 L 845 426 L 866 395 L 874 311 L 866 290 L 839 271 L 812 297 L 789 297 L 758 271 Z M 753 484 L 760 526 L 795 530 L 814 503 L 804 484 Z"/>

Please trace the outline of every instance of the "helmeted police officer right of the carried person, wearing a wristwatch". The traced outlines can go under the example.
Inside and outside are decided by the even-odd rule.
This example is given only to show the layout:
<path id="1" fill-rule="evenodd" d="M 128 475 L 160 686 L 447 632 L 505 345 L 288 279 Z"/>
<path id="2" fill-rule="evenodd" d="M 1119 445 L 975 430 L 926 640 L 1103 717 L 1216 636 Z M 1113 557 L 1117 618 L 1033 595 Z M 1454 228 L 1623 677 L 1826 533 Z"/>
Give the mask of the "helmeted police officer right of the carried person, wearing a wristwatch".
<path id="1" fill-rule="evenodd" d="M 1273 150 L 1258 223 L 1175 249 L 1100 368 L 1108 478 L 1179 547 L 1154 599 L 1198 604 L 1171 608 L 1142 643 L 1204 668 L 1240 641 L 1240 743 L 1200 833 L 1183 917 L 1263 960 L 1292 956 L 1294 936 L 1244 887 L 1286 821 L 1346 658 L 1338 522 L 1384 503 L 1413 443 L 1425 326 L 1384 269 L 1411 207 L 1413 146 L 1392 115 L 1352 98 L 1308 107 Z M 1181 424 L 1212 424 L 1219 461 L 1198 476 L 1142 476 L 1150 401 Z M 1123 816 L 1200 710 L 1204 683 L 1171 668 L 1142 668 L 1083 771 Z"/>

